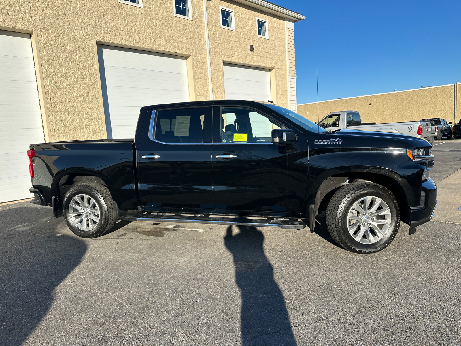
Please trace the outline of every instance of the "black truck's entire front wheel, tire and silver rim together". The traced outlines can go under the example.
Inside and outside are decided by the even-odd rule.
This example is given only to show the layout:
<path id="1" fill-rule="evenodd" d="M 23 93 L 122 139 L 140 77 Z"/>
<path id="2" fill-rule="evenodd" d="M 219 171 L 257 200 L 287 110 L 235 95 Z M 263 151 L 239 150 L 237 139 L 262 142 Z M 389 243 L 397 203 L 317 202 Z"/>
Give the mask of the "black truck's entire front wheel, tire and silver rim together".
<path id="1" fill-rule="evenodd" d="M 346 250 L 360 254 L 381 251 L 400 227 L 396 197 L 372 182 L 344 185 L 328 203 L 326 225 L 331 237 Z"/>

